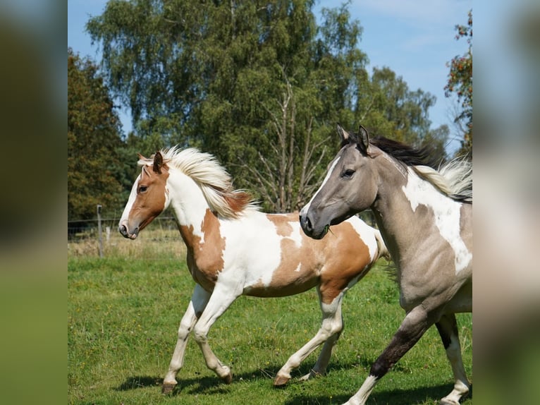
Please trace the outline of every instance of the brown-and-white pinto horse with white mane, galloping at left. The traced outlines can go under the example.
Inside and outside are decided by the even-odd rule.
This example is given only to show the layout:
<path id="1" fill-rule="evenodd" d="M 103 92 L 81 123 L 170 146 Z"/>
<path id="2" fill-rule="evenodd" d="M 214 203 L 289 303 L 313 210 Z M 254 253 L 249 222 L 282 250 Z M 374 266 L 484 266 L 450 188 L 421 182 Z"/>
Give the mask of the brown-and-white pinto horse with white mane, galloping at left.
<path id="1" fill-rule="evenodd" d="M 173 147 L 150 158 L 139 155 L 142 167 L 118 224 L 125 238 L 172 207 L 187 247 L 186 262 L 195 289 L 185 311 L 162 392 L 172 392 L 183 366 L 192 332 L 204 360 L 223 382 L 231 369 L 211 350 L 208 332 L 242 295 L 281 297 L 317 288 L 321 328 L 278 371 L 274 385 L 286 385 L 290 372 L 324 344 L 317 363 L 300 380 L 326 373 L 334 344 L 343 329 L 341 302 L 345 292 L 388 255 L 379 230 L 358 217 L 333 229 L 324 241 L 308 238 L 298 213 L 265 214 L 250 193 L 234 190 L 231 176 L 217 159 L 195 148 Z M 388 256 L 387 256 L 388 257 Z"/>

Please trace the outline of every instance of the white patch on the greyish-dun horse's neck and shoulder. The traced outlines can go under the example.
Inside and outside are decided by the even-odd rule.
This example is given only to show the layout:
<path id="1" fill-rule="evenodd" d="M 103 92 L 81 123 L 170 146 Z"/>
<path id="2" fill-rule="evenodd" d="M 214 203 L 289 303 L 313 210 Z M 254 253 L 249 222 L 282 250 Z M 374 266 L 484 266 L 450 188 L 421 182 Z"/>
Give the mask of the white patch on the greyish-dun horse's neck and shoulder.
<path id="1" fill-rule="evenodd" d="M 465 269 L 472 260 L 472 253 L 467 249 L 460 235 L 461 204 L 437 191 L 431 183 L 420 179 L 412 170 L 409 170 L 407 185 L 403 186 L 403 193 L 409 200 L 412 211 L 416 211 L 420 204 L 433 210 L 438 231 L 454 250 L 455 273 L 458 274 Z"/>

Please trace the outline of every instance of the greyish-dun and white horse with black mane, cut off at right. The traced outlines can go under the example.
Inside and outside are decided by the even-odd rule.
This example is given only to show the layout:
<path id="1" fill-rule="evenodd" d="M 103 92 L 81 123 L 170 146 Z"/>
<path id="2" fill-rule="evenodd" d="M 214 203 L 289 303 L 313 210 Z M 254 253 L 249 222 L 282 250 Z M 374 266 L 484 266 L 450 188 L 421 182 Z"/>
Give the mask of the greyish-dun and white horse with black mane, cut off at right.
<path id="1" fill-rule="evenodd" d="M 371 208 L 395 263 L 406 313 L 346 404 L 365 404 L 376 382 L 434 324 L 455 381 L 441 404 L 459 404 L 470 390 L 455 313 L 472 312 L 472 164 L 461 158 L 437 167 L 426 147 L 370 139 L 363 126 L 357 134 L 337 129 L 341 148 L 300 210 L 300 224 L 319 240 L 330 226 Z"/>

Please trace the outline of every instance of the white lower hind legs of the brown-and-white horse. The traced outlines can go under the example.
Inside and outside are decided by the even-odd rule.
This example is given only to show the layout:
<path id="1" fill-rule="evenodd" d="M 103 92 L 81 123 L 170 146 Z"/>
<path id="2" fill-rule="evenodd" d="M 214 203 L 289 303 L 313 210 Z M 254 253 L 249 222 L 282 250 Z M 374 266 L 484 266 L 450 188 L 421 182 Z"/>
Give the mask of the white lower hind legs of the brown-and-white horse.
<path id="1" fill-rule="evenodd" d="M 320 293 L 319 293 L 320 298 Z M 317 347 L 324 343 L 323 349 L 319 354 L 317 363 L 314 368 L 300 378 L 300 380 L 307 380 L 315 375 L 324 374 L 326 372 L 326 366 L 330 361 L 333 345 L 336 344 L 339 334 L 343 329 L 343 319 L 341 317 L 341 301 L 343 299 L 343 293 L 339 294 L 332 303 L 325 304 L 321 301 L 322 311 L 322 325 L 319 332 L 307 342 L 302 348 L 288 358 L 287 363 L 283 365 L 281 370 L 278 371 L 274 380 L 274 386 L 279 387 L 286 385 L 290 380 L 290 371 L 293 368 L 297 368 L 302 361 L 305 360 L 309 354 L 311 354 Z"/>

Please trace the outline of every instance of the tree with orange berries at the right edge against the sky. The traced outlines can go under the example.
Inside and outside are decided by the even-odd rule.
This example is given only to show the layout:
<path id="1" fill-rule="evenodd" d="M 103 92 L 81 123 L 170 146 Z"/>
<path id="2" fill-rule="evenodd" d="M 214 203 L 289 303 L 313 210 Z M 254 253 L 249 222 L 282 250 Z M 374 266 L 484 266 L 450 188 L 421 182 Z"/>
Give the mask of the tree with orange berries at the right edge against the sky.
<path id="1" fill-rule="evenodd" d="M 462 137 L 458 155 L 472 156 L 472 10 L 467 25 L 456 25 L 456 40 L 467 39 L 469 49 L 462 56 L 455 56 L 448 63 L 448 83 L 444 87 L 446 97 L 455 94 L 461 110 L 455 114 L 454 122 Z"/>

